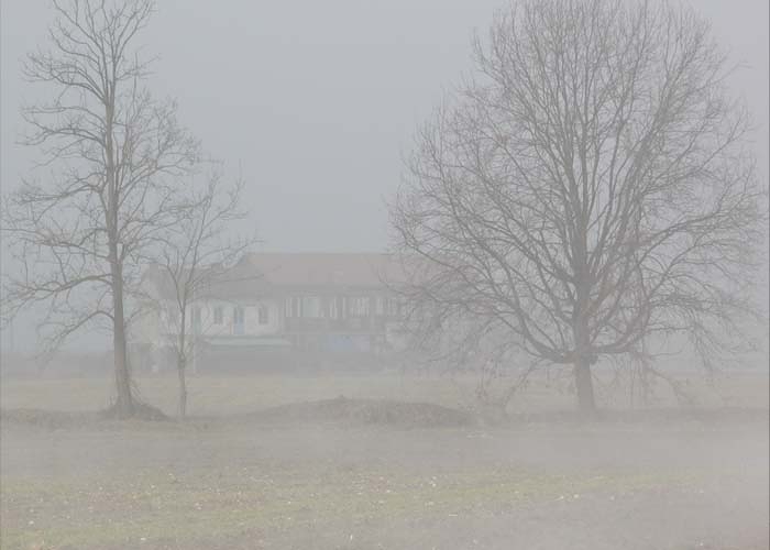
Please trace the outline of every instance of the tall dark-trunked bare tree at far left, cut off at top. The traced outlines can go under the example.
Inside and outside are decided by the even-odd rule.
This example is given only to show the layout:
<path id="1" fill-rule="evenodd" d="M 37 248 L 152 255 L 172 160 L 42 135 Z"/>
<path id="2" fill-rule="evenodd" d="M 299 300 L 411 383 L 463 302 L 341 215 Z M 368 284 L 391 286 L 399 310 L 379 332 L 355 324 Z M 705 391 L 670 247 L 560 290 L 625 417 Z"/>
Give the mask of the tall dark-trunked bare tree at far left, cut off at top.
<path id="1" fill-rule="evenodd" d="M 6 201 L 6 227 L 21 275 L 11 309 L 44 302 L 50 343 L 108 320 L 120 416 L 134 413 L 127 356 L 127 295 L 143 251 L 174 220 L 175 183 L 198 143 L 173 101 L 143 88 L 147 62 L 136 37 L 152 0 L 55 0 L 48 50 L 31 53 L 25 76 L 52 100 L 23 109 L 26 144 L 41 148 L 44 184 L 28 180 Z"/>

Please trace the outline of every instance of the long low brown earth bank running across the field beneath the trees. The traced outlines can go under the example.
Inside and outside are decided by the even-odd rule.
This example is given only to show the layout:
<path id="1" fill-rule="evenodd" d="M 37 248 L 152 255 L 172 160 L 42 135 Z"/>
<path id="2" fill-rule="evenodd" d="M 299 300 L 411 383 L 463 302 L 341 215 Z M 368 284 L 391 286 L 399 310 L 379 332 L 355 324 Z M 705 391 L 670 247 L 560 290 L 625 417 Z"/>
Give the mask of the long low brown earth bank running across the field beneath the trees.
<path id="1" fill-rule="evenodd" d="M 53 411 L 43 409 L 2 409 L 6 424 L 44 429 L 152 429 L 153 425 L 208 429 L 211 426 L 301 426 L 331 425 L 339 427 L 381 426 L 398 429 L 420 428 L 543 428 L 563 427 L 644 427 L 718 428 L 770 425 L 770 410 L 761 407 L 658 408 L 636 410 L 600 410 L 591 416 L 575 410 L 510 414 L 491 420 L 466 409 L 431 403 L 394 399 L 362 399 L 343 396 L 333 399 L 300 402 L 267 407 L 252 413 L 221 416 L 190 416 L 185 420 L 168 417 L 147 405 L 139 405 L 139 414 L 130 420 L 117 418 L 112 409 L 100 411 Z"/>

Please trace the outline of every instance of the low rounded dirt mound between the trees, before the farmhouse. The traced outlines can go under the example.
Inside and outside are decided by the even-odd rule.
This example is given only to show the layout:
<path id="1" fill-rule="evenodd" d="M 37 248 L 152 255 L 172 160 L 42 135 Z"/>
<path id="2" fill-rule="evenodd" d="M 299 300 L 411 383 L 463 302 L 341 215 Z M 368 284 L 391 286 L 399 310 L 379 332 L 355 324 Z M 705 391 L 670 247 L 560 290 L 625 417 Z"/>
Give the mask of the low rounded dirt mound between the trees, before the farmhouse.
<path id="1" fill-rule="evenodd" d="M 244 418 L 271 422 L 334 422 L 403 428 L 458 427 L 473 422 L 469 413 L 430 403 L 349 399 L 342 396 L 271 407 Z"/>

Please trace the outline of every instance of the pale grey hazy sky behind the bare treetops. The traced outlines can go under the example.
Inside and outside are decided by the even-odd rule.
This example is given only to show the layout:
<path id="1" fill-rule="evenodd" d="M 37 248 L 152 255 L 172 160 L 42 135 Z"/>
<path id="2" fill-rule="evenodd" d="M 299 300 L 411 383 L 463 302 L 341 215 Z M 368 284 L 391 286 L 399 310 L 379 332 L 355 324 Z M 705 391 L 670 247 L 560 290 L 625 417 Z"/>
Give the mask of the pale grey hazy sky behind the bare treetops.
<path id="1" fill-rule="evenodd" d="M 19 61 L 45 36 L 47 0 L 2 0 L 2 184 L 28 170 L 19 106 L 43 90 Z M 767 174 L 768 0 L 694 4 L 735 61 Z M 142 36 L 152 88 L 233 174 L 270 250 L 386 246 L 385 200 L 416 124 L 470 67 L 469 38 L 498 0 L 160 0 Z M 34 97 L 34 96 L 33 96 Z M 240 168 L 239 168 L 240 166 Z"/>

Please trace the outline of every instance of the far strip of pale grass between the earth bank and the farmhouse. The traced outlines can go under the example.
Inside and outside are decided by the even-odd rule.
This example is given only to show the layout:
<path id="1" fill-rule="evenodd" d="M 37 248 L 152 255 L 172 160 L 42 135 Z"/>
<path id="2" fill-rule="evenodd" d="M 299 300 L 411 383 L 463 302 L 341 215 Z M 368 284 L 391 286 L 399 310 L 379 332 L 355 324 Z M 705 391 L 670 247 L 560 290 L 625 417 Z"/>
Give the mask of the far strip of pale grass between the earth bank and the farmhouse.
<path id="1" fill-rule="evenodd" d="M 707 381 L 702 374 L 678 376 L 680 384 L 700 406 L 768 407 L 768 373 L 741 372 Z M 191 415 L 228 415 L 256 410 L 301 400 L 329 399 L 338 396 L 367 399 L 427 402 L 448 407 L 469 408 L 475 405 L 472 376 L 431 374 L 252 374 L 199 375 L 188 377 Z M 531 383 L 510 403 L 512 411 L 569 409 L 574 396 L 565 376 L 534 376 Z M 597 395 L 602 405 L 627 408 L 630 404 L 628 381 L 614 381 L 605 374 L 597 377 Z M 498 384 L 504 387 L 506 381 Z M 177 403 L 177 380 L 173 374 L 139 376 L 136 386 L 142 399 L 174 414 Z M 46 410 L 96 410 L 112 399 L 109 377 L 3 378 L 0 383 L 3 408 L 40 408 Z M 639 402 L 637 399 L 637 405 Z M 674 406 L 676 400 L 664 383 L 650 406 Z"/>

